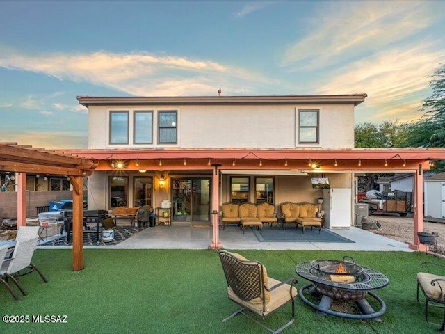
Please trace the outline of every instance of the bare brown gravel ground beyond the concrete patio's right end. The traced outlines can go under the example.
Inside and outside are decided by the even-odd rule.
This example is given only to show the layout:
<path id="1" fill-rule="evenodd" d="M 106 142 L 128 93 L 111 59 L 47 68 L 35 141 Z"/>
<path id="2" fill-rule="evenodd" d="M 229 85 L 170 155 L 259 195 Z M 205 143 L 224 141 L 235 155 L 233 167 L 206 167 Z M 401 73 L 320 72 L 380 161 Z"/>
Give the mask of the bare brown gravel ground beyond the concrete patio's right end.
<path id="1" fill-rule="evenodd" d="M 398 215 L 376 215 L 369 216 L 371 220 L 378 221 L 382 230 L 370 230 L 375 234 L 410 244 L 414 241 L 414 220 L 412 217 L 400 217 Z M 423 232 L 436 232 L 437 253 L 445 255 L 445 223 L 423 222 Z"/>

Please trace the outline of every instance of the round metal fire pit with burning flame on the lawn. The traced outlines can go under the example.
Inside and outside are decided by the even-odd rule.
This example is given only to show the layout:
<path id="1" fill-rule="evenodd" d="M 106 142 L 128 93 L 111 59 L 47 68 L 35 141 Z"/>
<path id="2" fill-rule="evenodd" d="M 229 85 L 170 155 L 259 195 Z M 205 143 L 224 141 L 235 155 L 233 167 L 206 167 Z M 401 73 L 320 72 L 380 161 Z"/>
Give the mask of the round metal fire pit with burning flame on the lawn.
<path id="1" fill-rule="evenodd" d="M 350 260 L 344 257 L 343 261 L 314 260 L 298 264 L 296 267 L 298 276 L 312 282 L 300 289 L 298 293 L 300 298 L 318 310 L 320 315 L 335 315 L 350 319 L 380 317 L 386 312 L 386 304 L 371 290 L 388 285 L 388 278 L 378 271 L 355 264 L 351 257 L 348 259 Z M 309 300 L 309 296 L 312 301 Z M 378 301 L 380 310 L 373 310 L 366 301 L 368 296 Z M 314 299 L 319 299 L 318 305 L 313 302 Z M 334 301 L 355 302 L 359 314 L 331 310 Z"/>

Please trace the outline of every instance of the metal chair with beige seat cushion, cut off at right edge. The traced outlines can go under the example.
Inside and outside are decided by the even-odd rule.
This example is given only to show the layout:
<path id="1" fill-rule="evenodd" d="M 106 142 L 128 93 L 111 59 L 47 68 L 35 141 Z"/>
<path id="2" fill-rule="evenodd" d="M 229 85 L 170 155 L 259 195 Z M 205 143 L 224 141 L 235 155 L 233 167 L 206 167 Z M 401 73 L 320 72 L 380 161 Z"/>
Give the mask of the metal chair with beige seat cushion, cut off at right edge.
<path id="1" fill-rule="evenodd" d="M 443 264 L 435 262 L 423 262 L 420 267 L 425 267 L 428 273 L 417 273 L 417 301 L 419 301 L 419 288 L 425 296 L 425 320 L 428 322 L 428 303 L 432 305 L 440 306 L 444 308 L 444 319 L 442 321 L 442 327 L 440 331 L 445 329 L 445 276 L 436 275 L 430 273 L 430 268 L 428 266 L 442 267 L 445 269 Z"/>

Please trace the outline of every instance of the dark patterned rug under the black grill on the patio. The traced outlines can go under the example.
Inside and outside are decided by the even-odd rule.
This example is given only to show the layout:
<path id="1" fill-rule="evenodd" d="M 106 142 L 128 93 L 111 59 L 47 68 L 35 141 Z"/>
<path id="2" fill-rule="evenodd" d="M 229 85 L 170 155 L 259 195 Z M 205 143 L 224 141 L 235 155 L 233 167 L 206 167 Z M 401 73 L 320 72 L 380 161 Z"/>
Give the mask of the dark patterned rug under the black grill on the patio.
<path id="1" fill-rule="evenodd" d="M 145 228 L 131 228 L 129 226 L 115 226 L 114 239 L 110 242 L 102 241 L 102 230 L 99 232 L 99 243 L 96 242 L 95 232 L 83 233 L 83 246 L 108 246 L 119 244 L 120 242 L 128 239 L 132 235 L 145 230 Z M 52 241 L 45 242 L 44 244 L 39 244 L 39 246 L 72 246 L 72 236 L 70 237 L 70 243 L 67 244 L 66 238 L 55 239 Z"/>

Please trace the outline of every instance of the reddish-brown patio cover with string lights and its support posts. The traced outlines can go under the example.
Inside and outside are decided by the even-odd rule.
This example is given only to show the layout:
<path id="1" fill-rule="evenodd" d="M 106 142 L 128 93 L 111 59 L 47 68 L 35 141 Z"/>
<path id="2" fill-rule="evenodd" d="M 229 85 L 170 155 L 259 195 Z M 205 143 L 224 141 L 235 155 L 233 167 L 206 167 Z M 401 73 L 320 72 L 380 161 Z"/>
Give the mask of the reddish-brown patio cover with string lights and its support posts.
<path id="1" fill-rule="evenodd" d="M 445 158 L 440 148 L 381 148 L 322 150 L 299 149 L 103 149 L 66 150 L 84 159 L 99 161 L 95 171 L 108 173 L 154 173 L 156 183 L 164 173 L 205 173 L 211 177 L 211 243 L 209 248 L 223 248 L 219 219 L 222 204 L 221 180 L 227 174 L 252 175 L 323 175 L 412 173 L 414 175 L 414 235 L 412 249 L 417 249 L 416 232 L 423 230 L 423 172 L 436 159 Z M 119 164 L 120 163 L 120 164 Z M 120 167 L 118 167 L 120 166 Z M 351 217 L 352 218 L 352 217 Z M 227 242 L 227 241 L 225 241 Z M 420 248 L 425 246 L 420 245 Z"/>

